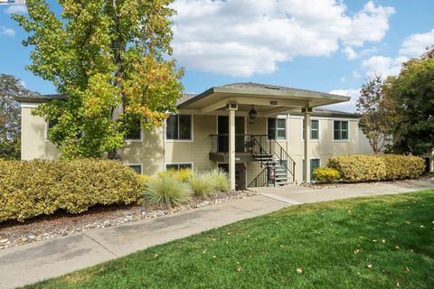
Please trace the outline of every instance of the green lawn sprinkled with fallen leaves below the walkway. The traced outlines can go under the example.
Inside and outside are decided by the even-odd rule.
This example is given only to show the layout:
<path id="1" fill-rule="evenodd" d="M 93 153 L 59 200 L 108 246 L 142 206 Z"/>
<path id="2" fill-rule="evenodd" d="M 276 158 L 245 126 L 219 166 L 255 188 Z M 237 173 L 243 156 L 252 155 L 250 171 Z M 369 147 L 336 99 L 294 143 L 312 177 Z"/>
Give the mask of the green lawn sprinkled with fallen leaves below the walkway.
<path id="1" fill-rule="evenodd" d="M 420 191 L 295 206 L 26 288 L 433 288 L 433 257 Z"/>

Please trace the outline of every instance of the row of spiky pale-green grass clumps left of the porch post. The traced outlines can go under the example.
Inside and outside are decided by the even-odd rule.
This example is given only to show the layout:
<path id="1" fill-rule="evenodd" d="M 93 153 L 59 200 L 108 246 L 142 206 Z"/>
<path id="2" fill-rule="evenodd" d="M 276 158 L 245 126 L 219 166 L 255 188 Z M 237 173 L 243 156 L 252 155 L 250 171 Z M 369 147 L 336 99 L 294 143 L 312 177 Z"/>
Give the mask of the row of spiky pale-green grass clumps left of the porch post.
<path id="1" fill-rule="evenodd" d="M 206 199 L 219 191 L 229 191 L 226 172 L 193 172 L 191 170 L 160 172 L 145 181 L 144 198 L 150 205 L 178 206 L 192 197 Z"/>

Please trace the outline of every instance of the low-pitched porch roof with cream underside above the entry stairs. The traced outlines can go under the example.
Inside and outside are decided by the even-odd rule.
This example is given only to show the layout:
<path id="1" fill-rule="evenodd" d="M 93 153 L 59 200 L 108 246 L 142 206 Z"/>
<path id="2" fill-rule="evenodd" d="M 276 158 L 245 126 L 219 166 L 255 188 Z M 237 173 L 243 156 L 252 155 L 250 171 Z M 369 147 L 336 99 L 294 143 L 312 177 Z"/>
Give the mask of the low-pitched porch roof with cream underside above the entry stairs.
<path id="1" fill-rule="evenodd" d="M 236 102 L 239 111 L 249 111 L 251 106 L 255 106 L 259 115 L 270 115 L 348 100 L 348 97 L 318 91 L 246 83 L 213 87 L 184 101 L 178 108 L 206 114 L 224 108 L 228 102 Z"/>

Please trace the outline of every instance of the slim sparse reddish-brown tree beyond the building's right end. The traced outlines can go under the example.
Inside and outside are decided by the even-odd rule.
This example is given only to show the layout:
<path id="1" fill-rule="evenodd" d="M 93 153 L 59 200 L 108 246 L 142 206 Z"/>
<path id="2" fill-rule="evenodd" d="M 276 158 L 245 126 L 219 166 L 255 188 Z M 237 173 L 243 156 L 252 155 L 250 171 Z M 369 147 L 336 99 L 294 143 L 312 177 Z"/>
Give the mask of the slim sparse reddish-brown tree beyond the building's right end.
<path id="1" fill-rule="evenodd" d="M 369 140 L 373 152 L 378 154 L 390 144 L 392 137 L 392 123 L 394 119 L 394 105 L 386 93 L 381 75 L 366 79 L 360 98 L 356 103 L 357 113 L 361 115 L 360 126 Z"/>

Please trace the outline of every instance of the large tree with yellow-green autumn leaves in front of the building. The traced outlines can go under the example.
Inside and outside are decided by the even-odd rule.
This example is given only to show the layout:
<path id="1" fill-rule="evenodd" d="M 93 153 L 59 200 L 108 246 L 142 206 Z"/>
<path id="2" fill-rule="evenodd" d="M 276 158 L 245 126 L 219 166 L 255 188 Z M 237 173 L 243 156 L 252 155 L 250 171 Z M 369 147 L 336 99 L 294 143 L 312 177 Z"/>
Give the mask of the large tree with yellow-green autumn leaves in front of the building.
<path id="1" fill-rule="evenodd" d="M 59 0 L 58 16 L 45 0 L 28 0 L 29 15 L 13 15 L 30 33 L 27 69 L 68 96 L 34 110 L 54 124 L 48 137 L 63 157 L 121 157 L 128 131 L 175 111 L 183 70 L 171 59 L 172 2 Z"/>

